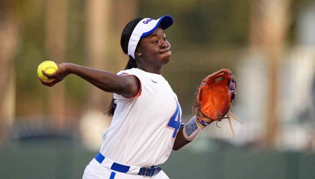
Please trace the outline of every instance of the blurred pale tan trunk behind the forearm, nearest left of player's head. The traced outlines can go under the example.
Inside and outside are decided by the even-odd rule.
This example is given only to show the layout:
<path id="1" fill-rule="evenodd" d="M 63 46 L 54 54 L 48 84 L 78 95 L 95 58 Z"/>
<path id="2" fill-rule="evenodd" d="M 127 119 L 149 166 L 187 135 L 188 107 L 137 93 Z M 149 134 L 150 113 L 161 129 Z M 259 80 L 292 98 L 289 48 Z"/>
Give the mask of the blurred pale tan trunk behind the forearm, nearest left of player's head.
<path id="1" fill-rule="evenodd" d="M 102 69 L 108 66 L 108 47 L 110 46 L 112 1 L 95 0 L 86 1 L 86 54 L 88 66 Z M 88 100 L 85 104 L 89 109 L 101 111 L 105 104 L 109 104 L 112 95 L 101 91 L 93 85 L 89 85 Z"/>

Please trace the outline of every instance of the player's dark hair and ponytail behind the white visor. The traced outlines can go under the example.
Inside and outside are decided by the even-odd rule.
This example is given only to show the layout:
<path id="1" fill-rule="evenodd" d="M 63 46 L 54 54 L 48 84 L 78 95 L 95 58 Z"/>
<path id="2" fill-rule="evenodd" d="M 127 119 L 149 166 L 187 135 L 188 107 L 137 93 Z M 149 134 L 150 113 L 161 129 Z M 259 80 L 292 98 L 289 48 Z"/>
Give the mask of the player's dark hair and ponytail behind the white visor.
<path id="1" fill-rule="evenodd" d="M 123 49 L 123 53 L 128 55 L 128 43 L 129 43 L 129 39 L 131 37 L 132 32 L 135 29 L 135 26 L 140 22 L 140 20 L 144 19 L 143 17 L 138 17 L 135 18 L 134 20 L 131 20 L 123 29 L 123 32 L 121 33 L 121 38 L 120 38 L 120 46 Z M 140 39 L 141 41 L 141 39 Z M 140 44 L 140 41 L 138 43 L 138 45 Z M 137 48 L 138 48 L 137 45 Z M 131 68 L 136 68 L 138 67 L 137 62 L 135 61 L 134 58 L 132 58 L 132 56 L 129 55 L 129 60 L 127 62 L 127 65 L 125 67 L 125 70 L 127 69 L 131 69 Z M 108 116 L 113 116 L 114 112 L 115 112 L 115 108 L 116 105 L 114 104 L 115 99 L 112 99 L 111 104 L 109 105 L 109 107 L 106 109 L 105 114 L 107 114 Z"/>

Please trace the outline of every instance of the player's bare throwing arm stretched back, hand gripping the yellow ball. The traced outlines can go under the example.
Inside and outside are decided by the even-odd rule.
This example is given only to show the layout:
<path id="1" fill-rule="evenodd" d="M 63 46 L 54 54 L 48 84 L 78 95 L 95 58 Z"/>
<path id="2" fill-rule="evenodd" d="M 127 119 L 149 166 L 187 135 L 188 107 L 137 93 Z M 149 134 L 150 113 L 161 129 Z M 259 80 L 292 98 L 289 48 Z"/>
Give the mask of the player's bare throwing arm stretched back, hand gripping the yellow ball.
<path id="1" fill-rule="evenodd" d="M 43 71 L 43 74 L 49 77 L 49 80 L 43 80 L 43 78 L 39 77 L 43 85 L 53 86 L 63 80 L 67 75 L 75 74 L 103 91 L 116 93 L 126 97 L 136 96 L 140 89 L 140 81 L 133 75 L 119 76 L 112 72 L 72 63 L 62 63 L 57 65 L 58 70 L 52 74 Z"/>

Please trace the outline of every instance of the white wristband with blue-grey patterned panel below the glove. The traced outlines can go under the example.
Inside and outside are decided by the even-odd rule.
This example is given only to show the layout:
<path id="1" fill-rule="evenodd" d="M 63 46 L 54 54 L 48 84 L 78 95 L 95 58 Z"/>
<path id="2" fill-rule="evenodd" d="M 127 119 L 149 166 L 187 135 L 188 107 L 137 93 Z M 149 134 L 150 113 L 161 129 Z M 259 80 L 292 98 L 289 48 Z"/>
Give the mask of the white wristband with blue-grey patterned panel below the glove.
<path id="1" fill-rule="evenodd" d="M 193 116 L 189 122 L 184 126 L 183 134 L 186 140 L 193 141 L 198 136 L 199 132 L 206 126 L 202 125 L 196 116 Z"/>

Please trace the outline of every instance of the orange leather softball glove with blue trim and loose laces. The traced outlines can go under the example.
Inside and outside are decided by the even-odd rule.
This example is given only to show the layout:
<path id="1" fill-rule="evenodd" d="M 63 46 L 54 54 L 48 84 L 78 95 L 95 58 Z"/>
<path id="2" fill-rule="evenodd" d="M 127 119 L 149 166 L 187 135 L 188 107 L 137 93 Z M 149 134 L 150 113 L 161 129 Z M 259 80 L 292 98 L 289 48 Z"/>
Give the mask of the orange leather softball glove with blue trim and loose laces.
<path id="1" fill-rule="evenodd" d="M 198 115 L 197 110 L 205 117 L 217 121 L 217 123 L 224 118 L 228 118 L 232 133 L 235 136 L 230 115 L 238 122 L 243 122 L 232 114 L 232 102 L 236 95 L 236 81 L 232 72 L 229 69 L 221 69 L 207 76 L 202 80 L 196 94 L 197 100 L 194 107 L 198 121 L 203 125 L 210 124 L 206 122 L 209 120 L 203 120 L 204 117 L 202 118 Z M 227 117 L 224 117 L 225 115 Z"/>

